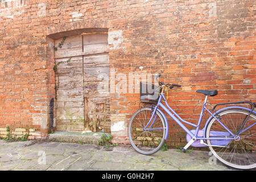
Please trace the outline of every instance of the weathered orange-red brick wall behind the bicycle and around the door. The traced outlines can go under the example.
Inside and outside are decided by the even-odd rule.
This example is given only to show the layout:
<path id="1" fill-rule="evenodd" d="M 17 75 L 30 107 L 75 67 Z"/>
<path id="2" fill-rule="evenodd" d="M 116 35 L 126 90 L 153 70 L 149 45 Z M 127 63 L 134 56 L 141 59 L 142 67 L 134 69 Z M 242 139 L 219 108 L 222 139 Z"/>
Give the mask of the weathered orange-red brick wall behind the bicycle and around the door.
<path id="1" fill-rule="evenodd" d="M 111 70 L 127 78 L 157 72 L 162 81 L 182 85 L 168 93 L 168 101 L 187 121 L 196 122 L 200 114 L 204 96 L 197 89 L 218 89 L 211 104 L 255 101 L 253 0 L 0 4 L 0 127 L 36 129 L 46 136 L 55 98 L 53 39 L 80 28 L 108 28 L 110 77 Z M 127 143 L 127 122 L 139 108 L 139 94 L 110 91 L 112 133 Z M 169 122 L 168 144 L 184 144 L 185 134 Z"/>

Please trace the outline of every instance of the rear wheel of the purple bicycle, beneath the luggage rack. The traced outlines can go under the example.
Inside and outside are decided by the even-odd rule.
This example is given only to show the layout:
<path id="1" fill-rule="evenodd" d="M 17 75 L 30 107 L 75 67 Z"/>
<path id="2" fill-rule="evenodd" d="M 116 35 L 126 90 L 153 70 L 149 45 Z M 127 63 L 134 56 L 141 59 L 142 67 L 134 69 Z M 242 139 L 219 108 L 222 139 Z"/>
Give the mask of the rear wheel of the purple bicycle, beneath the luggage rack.
<path id="1" fill-rule="evenodd" d="M 243 120 L 249 115 L 249 111 L 242 109 L 229 109 L 223 110 L 216 115 L 220 122 L 228 128 L 233 134 L 236 135 L 238 129 L 240 128 Z M 222 137 L 223 140 L 207 140 L 210 151 L 216 156 L 218 160 L 222 163 L 237 169 L 251 169 L 256 167 L 256 132 L 255 125 L 256 115 L 254 113 L 250 114 L 247 119 L 245 126 L 242 130 L 247 127 L 249 129 L 243 131 L 236 139 L 230 140 L 226 139 L 232 137 L 229 132 L 225 129 L 221 123 L 215 118 L 212 118 L 205 130 L 205 135 L 207 138 L 210 137 Z M 253 126 L 254 125 L 254 126 Z M 226 146 L 226 147 L 217 147 Z"/>

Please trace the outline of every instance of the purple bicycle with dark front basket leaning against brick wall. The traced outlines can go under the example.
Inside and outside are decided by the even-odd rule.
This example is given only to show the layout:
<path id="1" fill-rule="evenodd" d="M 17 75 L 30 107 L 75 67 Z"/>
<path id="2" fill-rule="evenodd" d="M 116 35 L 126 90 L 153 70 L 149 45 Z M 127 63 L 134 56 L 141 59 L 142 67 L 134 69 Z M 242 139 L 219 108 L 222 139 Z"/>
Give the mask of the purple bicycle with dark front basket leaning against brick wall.
<path id="1" fill-rule="evenodd" d="M 209 147 L 218 160 L 230 167 L 238 169 L 255 168 L 255 103 L 249 101 L 222 103 L 209 110 L 207 99 L 209 96 L 216 96 L 217 90 L 197 90 L 197 93 L 205 94 L 205 100 L 199 120 L 195 125 L 182 119 L 168 105 L 164 92 L 167 88 L 172 89 L 175 86 L 180 87 L 181 85 L 159 82 L 159 86 L 155 87 L 155 85 L 147 83 L 143 85 L 141 82 L 141 101 L 152 105 L 142 107 L 131 117 L 128 134 L 134 149 L 141 154 L 151 155 L 163 146 L 168 138 L 169 127 L 166 116 L 160 110 L 162 108 L 187 133 L 188 143 L 180 148 L 181 151 L 185 152 L 189 146 Z M 154 91 L 153 93 L 147 91 L 151 88 Z M 162 100 L 167 107 L 162 104 Z M 236 106 L 237 104 L 249 104 L 250 109 Z M 216 107 L 220 105 L 228 106 L 215 111 Z M 207 119 L 204 128 L 200 130 L 205 110 L 210 114 L 210 117 Z M 195 130 L 189 130 L 183 123 L 195 127 Z"/>

